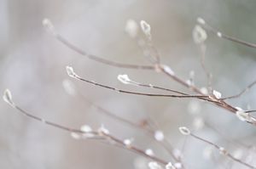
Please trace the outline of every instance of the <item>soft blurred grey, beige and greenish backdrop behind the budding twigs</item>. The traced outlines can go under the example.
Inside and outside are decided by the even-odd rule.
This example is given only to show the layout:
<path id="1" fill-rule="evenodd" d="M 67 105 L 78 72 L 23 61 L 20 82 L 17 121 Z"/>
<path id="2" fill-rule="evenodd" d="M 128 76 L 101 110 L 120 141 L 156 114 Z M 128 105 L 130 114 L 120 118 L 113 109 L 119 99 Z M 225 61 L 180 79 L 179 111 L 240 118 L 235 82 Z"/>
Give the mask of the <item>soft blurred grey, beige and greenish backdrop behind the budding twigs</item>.
<path id="1" fill-rule="evenodd" d="M 255 127 L 235 115 L 195 99 L 167 99 L 115 93 L 102 87 L 78 82 L 67 76 L 72 65 L 79 76 L 133 91 L 159 93 L 152 89 L 125 86 L 117 80 L 128 74 L 137 82 L 151 83 L 189 93 L 166 76 L 150 70 L 128 70 L 96 63 L 61 42 L 42 26 L 49 18 L 56 31 L 89 54 L 104 59 L 149 65 L 137 41 L 127 35 L 127 20 L 146 20 L 152 28 L 154 45 L 161 61 L 177 76 L 205 87 L 200 53 L 192 38 L 197 17 L 228 35 L 256 42 L 256 2 L 253 0 L 174 1 L 174 0 L 0 0 L 0 91 L 9 88 L 16 104 L 49 121 L 79 128 L 87 124 L 105 127 L 119 138 L 134 138 L 141 149 L 171 161 L 165 149 L 145 132 L 102 115 L 80 97 L 69 96 L 62 82 L 71 80 L 79 93 L 114 114 L 134 122 L 153 119 L 172 146 L 183 149 L 187 168 L 246 168 L 213 151 L 207 144 L 185 138 L 178 127 L 187 126 L 201 136 L 224 146 L 230 153 L 255 164 Z M 140 34 L 142 34 L 140 32 Z M 225 41 L 211 33 L 207 38 L 206 66 L 213 74 L 212 87 L 223 96 L 241 91 L 256 79 L 256 49 Z M 229 103 L 242 109 L 256 109 L 256 89 Z M 33 121 L 0 102 L 1 168 L 148 168 L 148 161 L 125 149 L 93 140 L 75 140 L 70 133 Z M 252 147 L 245 147 L 242 145 Z M 208 155 L 208 156 L 207 156 Z"/>

